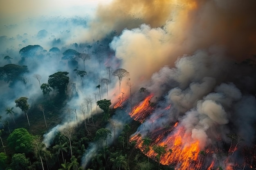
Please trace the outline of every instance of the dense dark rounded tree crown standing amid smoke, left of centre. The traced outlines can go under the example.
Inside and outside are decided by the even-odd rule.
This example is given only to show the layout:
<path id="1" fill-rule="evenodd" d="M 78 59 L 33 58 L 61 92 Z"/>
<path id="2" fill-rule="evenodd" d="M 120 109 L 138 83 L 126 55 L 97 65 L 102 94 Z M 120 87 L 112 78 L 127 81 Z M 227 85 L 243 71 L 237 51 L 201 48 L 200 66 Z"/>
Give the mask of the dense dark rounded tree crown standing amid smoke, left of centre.
<path id="1" fill-rule="evenodd" d="M 48 84 L 53 89 L 58 89 L 58 92 L 63 95 L 67 89 L 67 84 L 69 83 L 68 72 L 58 71 L 52 75 L 49 75 Z"/>

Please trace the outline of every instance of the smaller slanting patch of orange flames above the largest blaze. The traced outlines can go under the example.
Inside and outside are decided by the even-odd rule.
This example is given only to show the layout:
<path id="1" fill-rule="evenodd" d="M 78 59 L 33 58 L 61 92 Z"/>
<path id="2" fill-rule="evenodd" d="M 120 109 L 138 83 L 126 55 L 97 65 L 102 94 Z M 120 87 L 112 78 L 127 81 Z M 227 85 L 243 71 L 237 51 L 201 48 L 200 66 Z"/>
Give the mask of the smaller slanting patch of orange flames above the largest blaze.
<path id="1" fill-rule="evenodd" d="M 132 108 L 132 112 L 129 113 L 129 115 L 134 120 L 142 123 L 144 119 L 154 110 L 154 108 L 150 105 L 150 99 L 153 96 L 153 94 L 148 95 L 143 102 Z"/>

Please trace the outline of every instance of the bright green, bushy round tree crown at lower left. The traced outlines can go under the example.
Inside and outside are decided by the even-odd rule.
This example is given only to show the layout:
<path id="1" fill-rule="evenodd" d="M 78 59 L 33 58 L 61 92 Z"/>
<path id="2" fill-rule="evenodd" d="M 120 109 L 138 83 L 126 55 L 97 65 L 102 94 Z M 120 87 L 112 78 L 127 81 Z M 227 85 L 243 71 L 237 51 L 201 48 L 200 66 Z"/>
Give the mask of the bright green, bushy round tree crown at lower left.
<path id="1" fill-rule="evenodd" d="M 34 136 L 27 129 L 18 128 L 13 130 L 7 138 L 8 146 L 16 152 L 29 153 L 32 152 Z"/>

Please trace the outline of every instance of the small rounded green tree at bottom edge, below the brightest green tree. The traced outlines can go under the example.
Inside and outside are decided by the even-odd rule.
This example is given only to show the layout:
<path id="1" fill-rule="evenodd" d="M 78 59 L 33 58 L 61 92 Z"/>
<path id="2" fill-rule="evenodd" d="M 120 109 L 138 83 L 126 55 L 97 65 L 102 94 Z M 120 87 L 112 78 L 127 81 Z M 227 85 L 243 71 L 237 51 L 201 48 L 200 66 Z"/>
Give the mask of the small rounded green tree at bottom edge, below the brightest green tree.
<path id="1" fill-rule="evenodd" d="M 28 170 L 29 159 L 24 153 L 14 154 L 11 158 L 11 168 L 13 170 Z"/>

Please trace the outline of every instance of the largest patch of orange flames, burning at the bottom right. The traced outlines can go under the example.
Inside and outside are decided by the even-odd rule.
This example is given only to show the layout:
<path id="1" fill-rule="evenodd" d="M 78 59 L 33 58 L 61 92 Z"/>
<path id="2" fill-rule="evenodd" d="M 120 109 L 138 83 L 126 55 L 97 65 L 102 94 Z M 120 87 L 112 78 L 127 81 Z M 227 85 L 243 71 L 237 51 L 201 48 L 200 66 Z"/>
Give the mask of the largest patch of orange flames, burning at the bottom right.
<path id="1" fill-rule="evenodd" d="M 136 141 L 136 147 L 153 159 L 157 155 L 153 150 L 154 145 L 166 147 L 166 152 L 160 157 L 160 163 L 163 165 L 177 165 L 179 170 L 200 169 L 203 159 L 202 157 L 199 158 L 199 141 L 192 139 L 191 134 L 186 134 L 184 128 L 177 126 L 177 123 L 172 128 L 175 129 L 165 139 L 163 139 L 164 135 L 159 135 L 153 139 L 149 146 L 150 150 L 146 153 L 144 152 L 146 146 L 143 145 L 143 139 L 140 135 L 133 136 L 130 141 Z"/>

